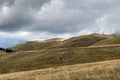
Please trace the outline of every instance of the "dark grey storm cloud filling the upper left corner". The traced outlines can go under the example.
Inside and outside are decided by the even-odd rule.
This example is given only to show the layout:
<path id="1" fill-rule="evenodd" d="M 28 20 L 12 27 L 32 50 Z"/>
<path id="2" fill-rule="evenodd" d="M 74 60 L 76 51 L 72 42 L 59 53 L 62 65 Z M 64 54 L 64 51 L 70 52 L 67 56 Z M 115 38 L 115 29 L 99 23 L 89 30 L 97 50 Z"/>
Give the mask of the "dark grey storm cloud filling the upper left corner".
<path id="1" fill-rule="evenodd" d="M 34 11 L 49 0 L 1 0 L 0 30 L 16 31 L 31 25 Z M 34 26 L 33 26 L 34 27 Z"/>

